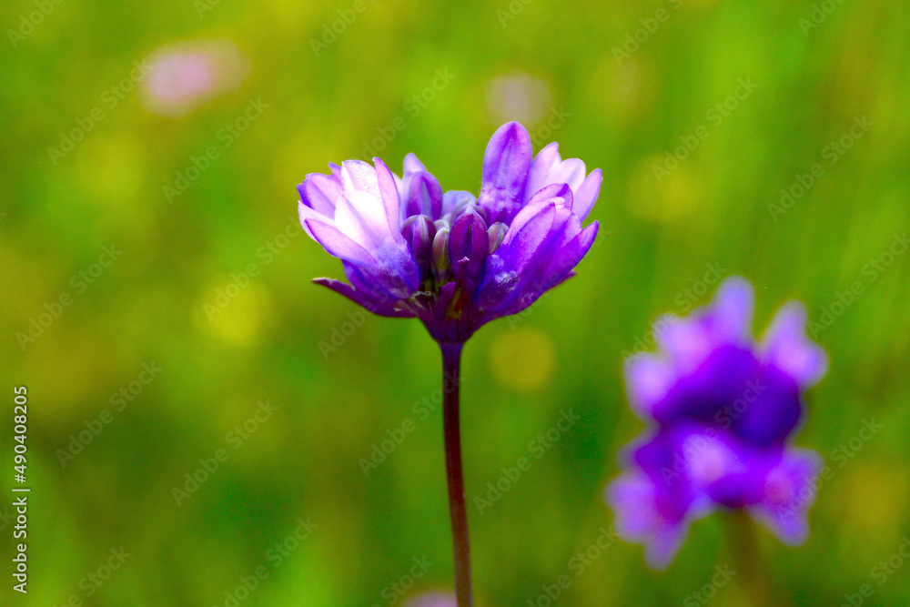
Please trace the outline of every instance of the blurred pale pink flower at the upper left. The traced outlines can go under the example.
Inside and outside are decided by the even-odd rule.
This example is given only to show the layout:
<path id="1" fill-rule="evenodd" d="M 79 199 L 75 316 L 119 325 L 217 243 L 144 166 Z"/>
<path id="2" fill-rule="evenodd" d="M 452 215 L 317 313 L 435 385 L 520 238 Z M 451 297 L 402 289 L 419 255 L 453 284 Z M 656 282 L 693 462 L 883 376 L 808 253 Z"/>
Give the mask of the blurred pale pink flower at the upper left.
<path id="1" fill-rule="evenodd" d="M 248 56 L 229 40 L 163 46 L 147 61 L 142 100 L 160 116 L 185 116 L 236 90 L 249 74 Z"/>

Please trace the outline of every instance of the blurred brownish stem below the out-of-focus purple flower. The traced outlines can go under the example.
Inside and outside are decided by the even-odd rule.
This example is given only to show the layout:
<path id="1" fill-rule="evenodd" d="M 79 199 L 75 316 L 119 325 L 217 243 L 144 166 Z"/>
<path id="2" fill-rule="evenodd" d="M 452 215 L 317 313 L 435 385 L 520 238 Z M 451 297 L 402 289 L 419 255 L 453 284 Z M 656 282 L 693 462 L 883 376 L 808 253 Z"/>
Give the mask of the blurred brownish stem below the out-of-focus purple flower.
<path id="1" fill-rule="evenodd" d="M 741 510 L 728 512 L 726 519 L 733 571 L 738 573 L 743 594 L 755 607 L 792 605 L 784 592 L 773 582 L 771 572 L 768 571 L 758 546 L 753 520 Z"/>

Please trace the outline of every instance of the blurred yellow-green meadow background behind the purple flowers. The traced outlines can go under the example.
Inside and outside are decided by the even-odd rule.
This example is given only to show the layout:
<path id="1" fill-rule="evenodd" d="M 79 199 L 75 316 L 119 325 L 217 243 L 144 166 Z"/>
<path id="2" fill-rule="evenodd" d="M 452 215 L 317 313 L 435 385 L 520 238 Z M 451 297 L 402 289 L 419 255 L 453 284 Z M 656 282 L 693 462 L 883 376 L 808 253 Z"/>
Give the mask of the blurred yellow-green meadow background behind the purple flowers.
<path id="1" fill-rule="evenodd" d="M 30 592 L 11 591 L 5 556 L 4 604 L 230 605 L 226 592 L 262 566 L 268 578 L 239 604 L 371 607 L 393 604 L 389 584 L 424 556 L 433 565 L 402 601 L 450 589 L 440 411 L 419 404 L 438 396 L 438 350 L 419 322 L 361 317 L 310 284 L 342 272 L 299 228 L 294 188 L 373 146 L 396 171 L 413 151 L 446 189 L 476 192 L 484 147 L 512 117 L 535 150 L 556 140 L 564 157 L 602 168 L 591 215 L 602 231 L 577 278 L 465 349 L 478 605 L 545 605 L 541 586 L 563 574 L 559 604 L 703 604 L 692 593 L 729 561 L 722 517 L 696 523 L 666 572 L 622 541 L 581 575 L 570 561 L 609 530 L 602 490 L 642 429 L 622 353 L 647 342 L 659 314 L 709 300 L 713 288 L 685 294 L 703 289 L 708 264 L 753 281 L 756 331 L 789 298 L 814 321 L 836 315 L 817 333 L 831 364 L 796 439 L 833 476 L 804 546 L 761 531 L 774 577 L 800 606 L 839 605 L 863 584 L 875 591 L 866 604 L 910 604 L 910 564 L 881 584 L 873 572 L 910 534 L 910 255 L 868 266 L 910 230 L 904 2 L 829 0 L 829 15 L 807 0 L 364 0 L 316 50 L 354 3 L 48 5 L 21 39 L 9 32 L 38 8 L 0 7 L 0 444 L 8 487 L 12 390 L 24 384 L 33 488 Z M 220 38 L 249 58 L 237 90 L 180 117 L 148 111 L 135 91 L 102 100 L 158 47 Z M 624 46 L 628 56 L 614 50 Z M 447 82 L 417 104 L 438 70 Z M 733 104 L 741 78 L 757 87 Z M 219 132 L 250 100 L 268 107 L 226 147 Z M 737 107 L 718 120 L 724 103 Z M 104 119 L 53 157 L 48 147 L 96 107 Z M 872 126 L 832 157 L 863 116 Z M 709 136 L 655 177 L 701 126 Z M 383 132 L 394 138 L 370 143 Z M 217 158 L 169 200 L 165 186 L 207 147 Z M 816 163 L 824 176 L 777 212 L 781 189 Z M 116 260 L 93 266 L 111 246 Z M 242 276 L 250 265 L 256 276 Z M 229 288 L 233 277 L 244 287 Z M 862 294 L 838 306 L 857 281 Z M 65 293 L 58 318 L 17 339 Z M 144 363 L 161 369 L 147 385 L 136 383 L 150 377 Z M 131 387 L 141 392 L 119 400 Z M 249 422 L 267 400 L 277 409 Z M 104 410 L 109 423 L 63 465 L 61 450 Z M 563 410 L 581 420 L 480 514 L 474 498 Z M 856 438 L 864 420 L 882 425 L 871 440 Z M 238 439 L 245 422 L 255 430 Z M 403 423 L 413 431 L 365 475 L 359 460 Z M 842 444 L 851 457 L 834 453 Z M 217 450 L 227 460 L 178 505 L 174 488 Z M 300 519 L 318 527 L 275 566 L 268 551 Z M 0 525 L 8 555 L 11 526 Z M 121 546 L 123 565 L 90 582 Z M 742 601 L 735 578 L 710 600 Z"/>

